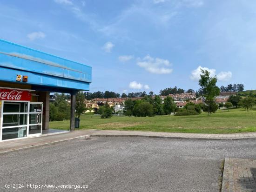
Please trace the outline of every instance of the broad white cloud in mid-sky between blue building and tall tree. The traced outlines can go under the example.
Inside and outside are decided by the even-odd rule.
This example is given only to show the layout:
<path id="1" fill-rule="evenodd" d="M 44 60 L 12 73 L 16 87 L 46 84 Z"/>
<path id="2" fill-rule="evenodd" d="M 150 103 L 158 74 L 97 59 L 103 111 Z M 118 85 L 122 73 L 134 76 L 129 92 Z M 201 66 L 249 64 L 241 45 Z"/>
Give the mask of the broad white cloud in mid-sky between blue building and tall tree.
<path id="1" fill-rule="evenodd" d="M 169 74 L 173 71 L 173 69 L 169 68 L 171 63 L 168 60 L 163 60 L 160 58 L 154 59 L 149 55 L 144 57 L 142 60 L 138 59 L 137 65 L 144 68 L 149 73 Z"/>

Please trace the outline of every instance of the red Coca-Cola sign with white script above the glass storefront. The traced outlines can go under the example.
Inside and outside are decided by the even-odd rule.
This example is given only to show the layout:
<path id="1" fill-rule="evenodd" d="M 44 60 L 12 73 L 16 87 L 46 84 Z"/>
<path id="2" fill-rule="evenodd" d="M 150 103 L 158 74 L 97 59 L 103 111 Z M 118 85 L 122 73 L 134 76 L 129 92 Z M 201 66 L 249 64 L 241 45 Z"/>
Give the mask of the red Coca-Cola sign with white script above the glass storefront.
<path id="1" fill-rule="evenodd" d="M 0 89 L 0 100 L 30 101 L 31 94 L 28 91 L 14 89 Z"/>

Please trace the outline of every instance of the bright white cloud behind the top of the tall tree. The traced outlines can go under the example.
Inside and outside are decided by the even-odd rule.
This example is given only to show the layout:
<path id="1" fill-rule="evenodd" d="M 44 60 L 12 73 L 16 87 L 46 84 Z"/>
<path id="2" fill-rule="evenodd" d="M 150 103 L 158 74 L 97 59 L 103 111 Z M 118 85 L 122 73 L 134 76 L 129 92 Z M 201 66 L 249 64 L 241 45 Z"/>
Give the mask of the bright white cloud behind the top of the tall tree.
<path id="1" fill-rule="evenodd" d="M 198 66 L 195 70 L 193 70 L 191 72 L 190 79 L 195 80 L 195 81 L 199 80 L 200 75 L 202 74 L 201 69 L 204 71 L 205 70 L 209 71 L 210 77 L 217 76 L 217 79 L 220 81 L 228 81 L 232 77 L 232 73 L 230 71 L 228 71 L 228 72 L 222 71 L 222 72 L 216 74 L 216 69 L 209 69 L 207 67 Z"/>

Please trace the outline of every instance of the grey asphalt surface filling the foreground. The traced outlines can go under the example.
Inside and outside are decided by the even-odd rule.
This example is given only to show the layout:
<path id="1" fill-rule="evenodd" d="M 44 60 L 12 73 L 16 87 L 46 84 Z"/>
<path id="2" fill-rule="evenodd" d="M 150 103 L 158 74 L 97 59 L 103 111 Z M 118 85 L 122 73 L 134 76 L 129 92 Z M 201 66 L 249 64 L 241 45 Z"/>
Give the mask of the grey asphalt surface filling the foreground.
<path id="1" fill-rule="evenodd" d="M 256 140 L 71 141 L 0 155 L 0 191 L 217 192 L 225 157 L 256 159 Z"/>

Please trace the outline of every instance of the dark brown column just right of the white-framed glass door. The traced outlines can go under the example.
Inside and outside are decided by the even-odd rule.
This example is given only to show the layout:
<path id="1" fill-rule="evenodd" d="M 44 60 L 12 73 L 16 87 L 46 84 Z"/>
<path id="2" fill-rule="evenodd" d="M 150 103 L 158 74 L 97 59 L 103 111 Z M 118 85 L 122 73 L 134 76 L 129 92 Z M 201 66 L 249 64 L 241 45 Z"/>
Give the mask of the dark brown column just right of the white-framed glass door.
<path id="1" fill-rule="evenodd" d="M 43 103 L 42 129 L 49 129 L 50 92 L 37 92 L 38 102 Z"/>

